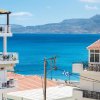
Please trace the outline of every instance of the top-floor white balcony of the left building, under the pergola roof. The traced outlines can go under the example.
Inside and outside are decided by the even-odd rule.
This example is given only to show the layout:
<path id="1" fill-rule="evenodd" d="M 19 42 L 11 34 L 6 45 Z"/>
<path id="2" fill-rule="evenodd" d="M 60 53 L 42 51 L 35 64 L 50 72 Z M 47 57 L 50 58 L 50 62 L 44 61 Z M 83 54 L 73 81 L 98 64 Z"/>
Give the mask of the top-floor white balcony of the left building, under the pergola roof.
<path id="1" fill-rule="evenodd" d="M 8 25 L 0 25 L 0 36 L 12 36 L 11 27 Z"/>

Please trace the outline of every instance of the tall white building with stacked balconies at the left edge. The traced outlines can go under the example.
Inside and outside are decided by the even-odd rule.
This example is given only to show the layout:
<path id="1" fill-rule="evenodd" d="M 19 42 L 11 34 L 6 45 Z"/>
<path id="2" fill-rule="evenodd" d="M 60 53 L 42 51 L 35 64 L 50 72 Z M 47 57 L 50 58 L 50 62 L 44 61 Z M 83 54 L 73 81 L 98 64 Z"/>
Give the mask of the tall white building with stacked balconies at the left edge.
<path id="1" fill-rule="evenodd" d="M 0 10 L 0 15 L 6 16 L 6 24 L 0 23 L 0 37 L 3 37 L 3 51 L 0 53 L 0 100 L 6 100 L 5 94 L 15 89 L 15 80 L 7 77 L 7 71 L 13 70 L 18 63 L 17 53 L 7 52 L 7 37 L 12 36 L 9 25 L 10 14 L 9 11 Z M 0 20 L 2 22 L 2 17 Z"/>

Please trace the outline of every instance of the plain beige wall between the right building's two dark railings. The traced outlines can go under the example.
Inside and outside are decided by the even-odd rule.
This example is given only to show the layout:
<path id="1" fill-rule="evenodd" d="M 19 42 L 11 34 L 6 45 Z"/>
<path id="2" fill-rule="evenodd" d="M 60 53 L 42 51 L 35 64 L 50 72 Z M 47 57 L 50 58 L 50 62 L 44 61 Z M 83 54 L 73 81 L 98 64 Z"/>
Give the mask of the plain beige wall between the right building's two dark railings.
<path id="1" fill-rule="evenodd" d="M 100 72 L 83 71 L 80 75 L 81 89 L 100 92 Z"/>

